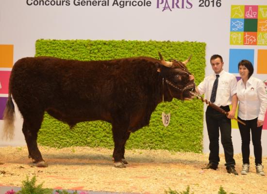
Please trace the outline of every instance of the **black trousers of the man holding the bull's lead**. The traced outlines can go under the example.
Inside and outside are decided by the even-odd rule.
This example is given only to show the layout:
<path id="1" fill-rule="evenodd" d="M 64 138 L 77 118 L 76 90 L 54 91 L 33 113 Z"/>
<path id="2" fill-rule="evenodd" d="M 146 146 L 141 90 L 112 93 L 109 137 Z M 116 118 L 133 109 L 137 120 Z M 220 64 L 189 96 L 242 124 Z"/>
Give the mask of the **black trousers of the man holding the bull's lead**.
<path id="1" fill-rule="evenodd" d="M 230 111 L 229 106 L 220 107 L 226 112 Z M 224 149 L 226 166 L 234 166 L 234 148 L 231 136 L 231 119 L 225 114 L 219 113 L 210 106 L 206 110 L 206 123 L 210 140 L 209 162 L 218 165 L 219 159 L 219 130 L 221 134 L 221 144 Z"/>

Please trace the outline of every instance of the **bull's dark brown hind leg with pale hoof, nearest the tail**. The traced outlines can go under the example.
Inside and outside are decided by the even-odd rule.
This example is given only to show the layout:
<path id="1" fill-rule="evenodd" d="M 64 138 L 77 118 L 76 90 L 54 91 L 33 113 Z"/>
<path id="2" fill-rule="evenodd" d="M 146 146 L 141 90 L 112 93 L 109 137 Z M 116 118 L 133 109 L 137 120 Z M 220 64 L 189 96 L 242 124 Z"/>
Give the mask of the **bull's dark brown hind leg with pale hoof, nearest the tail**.
<path id="1" fill-rule="evenodd" d="M 25 136 L 27 143 L 29 158 L 32 158 L 33 162 L 36 163 L 37 167 L 47 167 L 47 163 L 43 160 L 41 152 L 37 146 L 37 133 L 41 127 L 43 117 L 39 118 L 25 118 L 23 121 L 22 132 Z"/>

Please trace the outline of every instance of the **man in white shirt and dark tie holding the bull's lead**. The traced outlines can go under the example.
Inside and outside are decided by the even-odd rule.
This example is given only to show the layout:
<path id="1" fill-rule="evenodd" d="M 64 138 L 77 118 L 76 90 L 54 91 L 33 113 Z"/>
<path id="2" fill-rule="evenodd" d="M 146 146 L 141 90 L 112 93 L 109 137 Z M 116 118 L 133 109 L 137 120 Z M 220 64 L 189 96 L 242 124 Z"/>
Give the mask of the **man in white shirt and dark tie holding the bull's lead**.
<path id="1" fill-rule="evenodd" d="M 214 73 L 204 79 L 197 87 L 197 92 L 202 95 L 205 94 L 205 98 L 219 106 L 226 112 L 226 116 L 223 113 L 219 113 L 212 107 L 208 106 L 206 110 L 206 123 L 210 140 L 210 155 L 209 163 L 202 169 L 218 168 L 219 159 L 219 130 L 221 134 L 221 143 L 224 149 L 226 169 L 228 173 L 238 175 L 234 165 L 234 148 L 231 136 L 231 119 L 234 118 L 237 96 L 236 96 L 236 78 L 233 74 L 230 74 L 223 70 L 223 60 L 220 55 L 213 55 L 210 59 L 210 63 Z M 217 82 L 217 83 L 216 83 Z M 214 89 L 213 89 L 214 88 Z M 217 92 L 216 92 L 217 88 Z M 229 105 L 232 104 L 232 110 L 230 111 Z"/>

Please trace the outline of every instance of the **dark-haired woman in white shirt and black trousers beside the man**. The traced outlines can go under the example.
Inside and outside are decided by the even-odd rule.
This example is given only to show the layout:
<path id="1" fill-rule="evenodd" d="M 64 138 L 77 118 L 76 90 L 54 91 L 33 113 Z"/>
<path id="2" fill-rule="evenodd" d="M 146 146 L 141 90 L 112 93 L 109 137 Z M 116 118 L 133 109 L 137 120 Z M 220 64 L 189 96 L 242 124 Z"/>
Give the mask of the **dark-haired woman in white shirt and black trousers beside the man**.
<path id="1" fill-rule="evenodd" d="M 238 123 L 242 139 L 243 168 L 242 175 L 247 175 L 250 168 L 250 130 L 254 148 L 256 173 L 265 176 L 262 165 L 261 134 L 267 108 L 267 94 L 264 82 L 251 77 L 253 65 L 248 60 L 238 64 L 241 80 L 237 82 L 239 100 L 238 119 L 246 123 Z"/>

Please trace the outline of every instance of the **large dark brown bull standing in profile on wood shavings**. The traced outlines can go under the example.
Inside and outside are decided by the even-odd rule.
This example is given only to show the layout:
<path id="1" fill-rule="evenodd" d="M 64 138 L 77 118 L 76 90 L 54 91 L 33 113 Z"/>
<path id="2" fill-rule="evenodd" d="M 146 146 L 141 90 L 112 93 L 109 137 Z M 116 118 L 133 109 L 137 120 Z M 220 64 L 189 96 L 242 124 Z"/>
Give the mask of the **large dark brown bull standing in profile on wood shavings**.
<path id="1" fill-rule="evenodd" d="M 4 111 L 4 135 L 14 136 L 16 102 L 23 117 L 22 131 L 29 158 L 47 167 L 37 146 L 44 113 L 70 127 L 83 121 L 111 123 L 115 167 L 125 167 L 125 144 L 130 134 L 150 122 L 163 101 L 194 97 L 195 82 L 184 62 L 150 57 L 108 61 L 77 61 L 26 57 L 12 68 Z M 192 93 L 193 92 L 193 93 Z"/>

